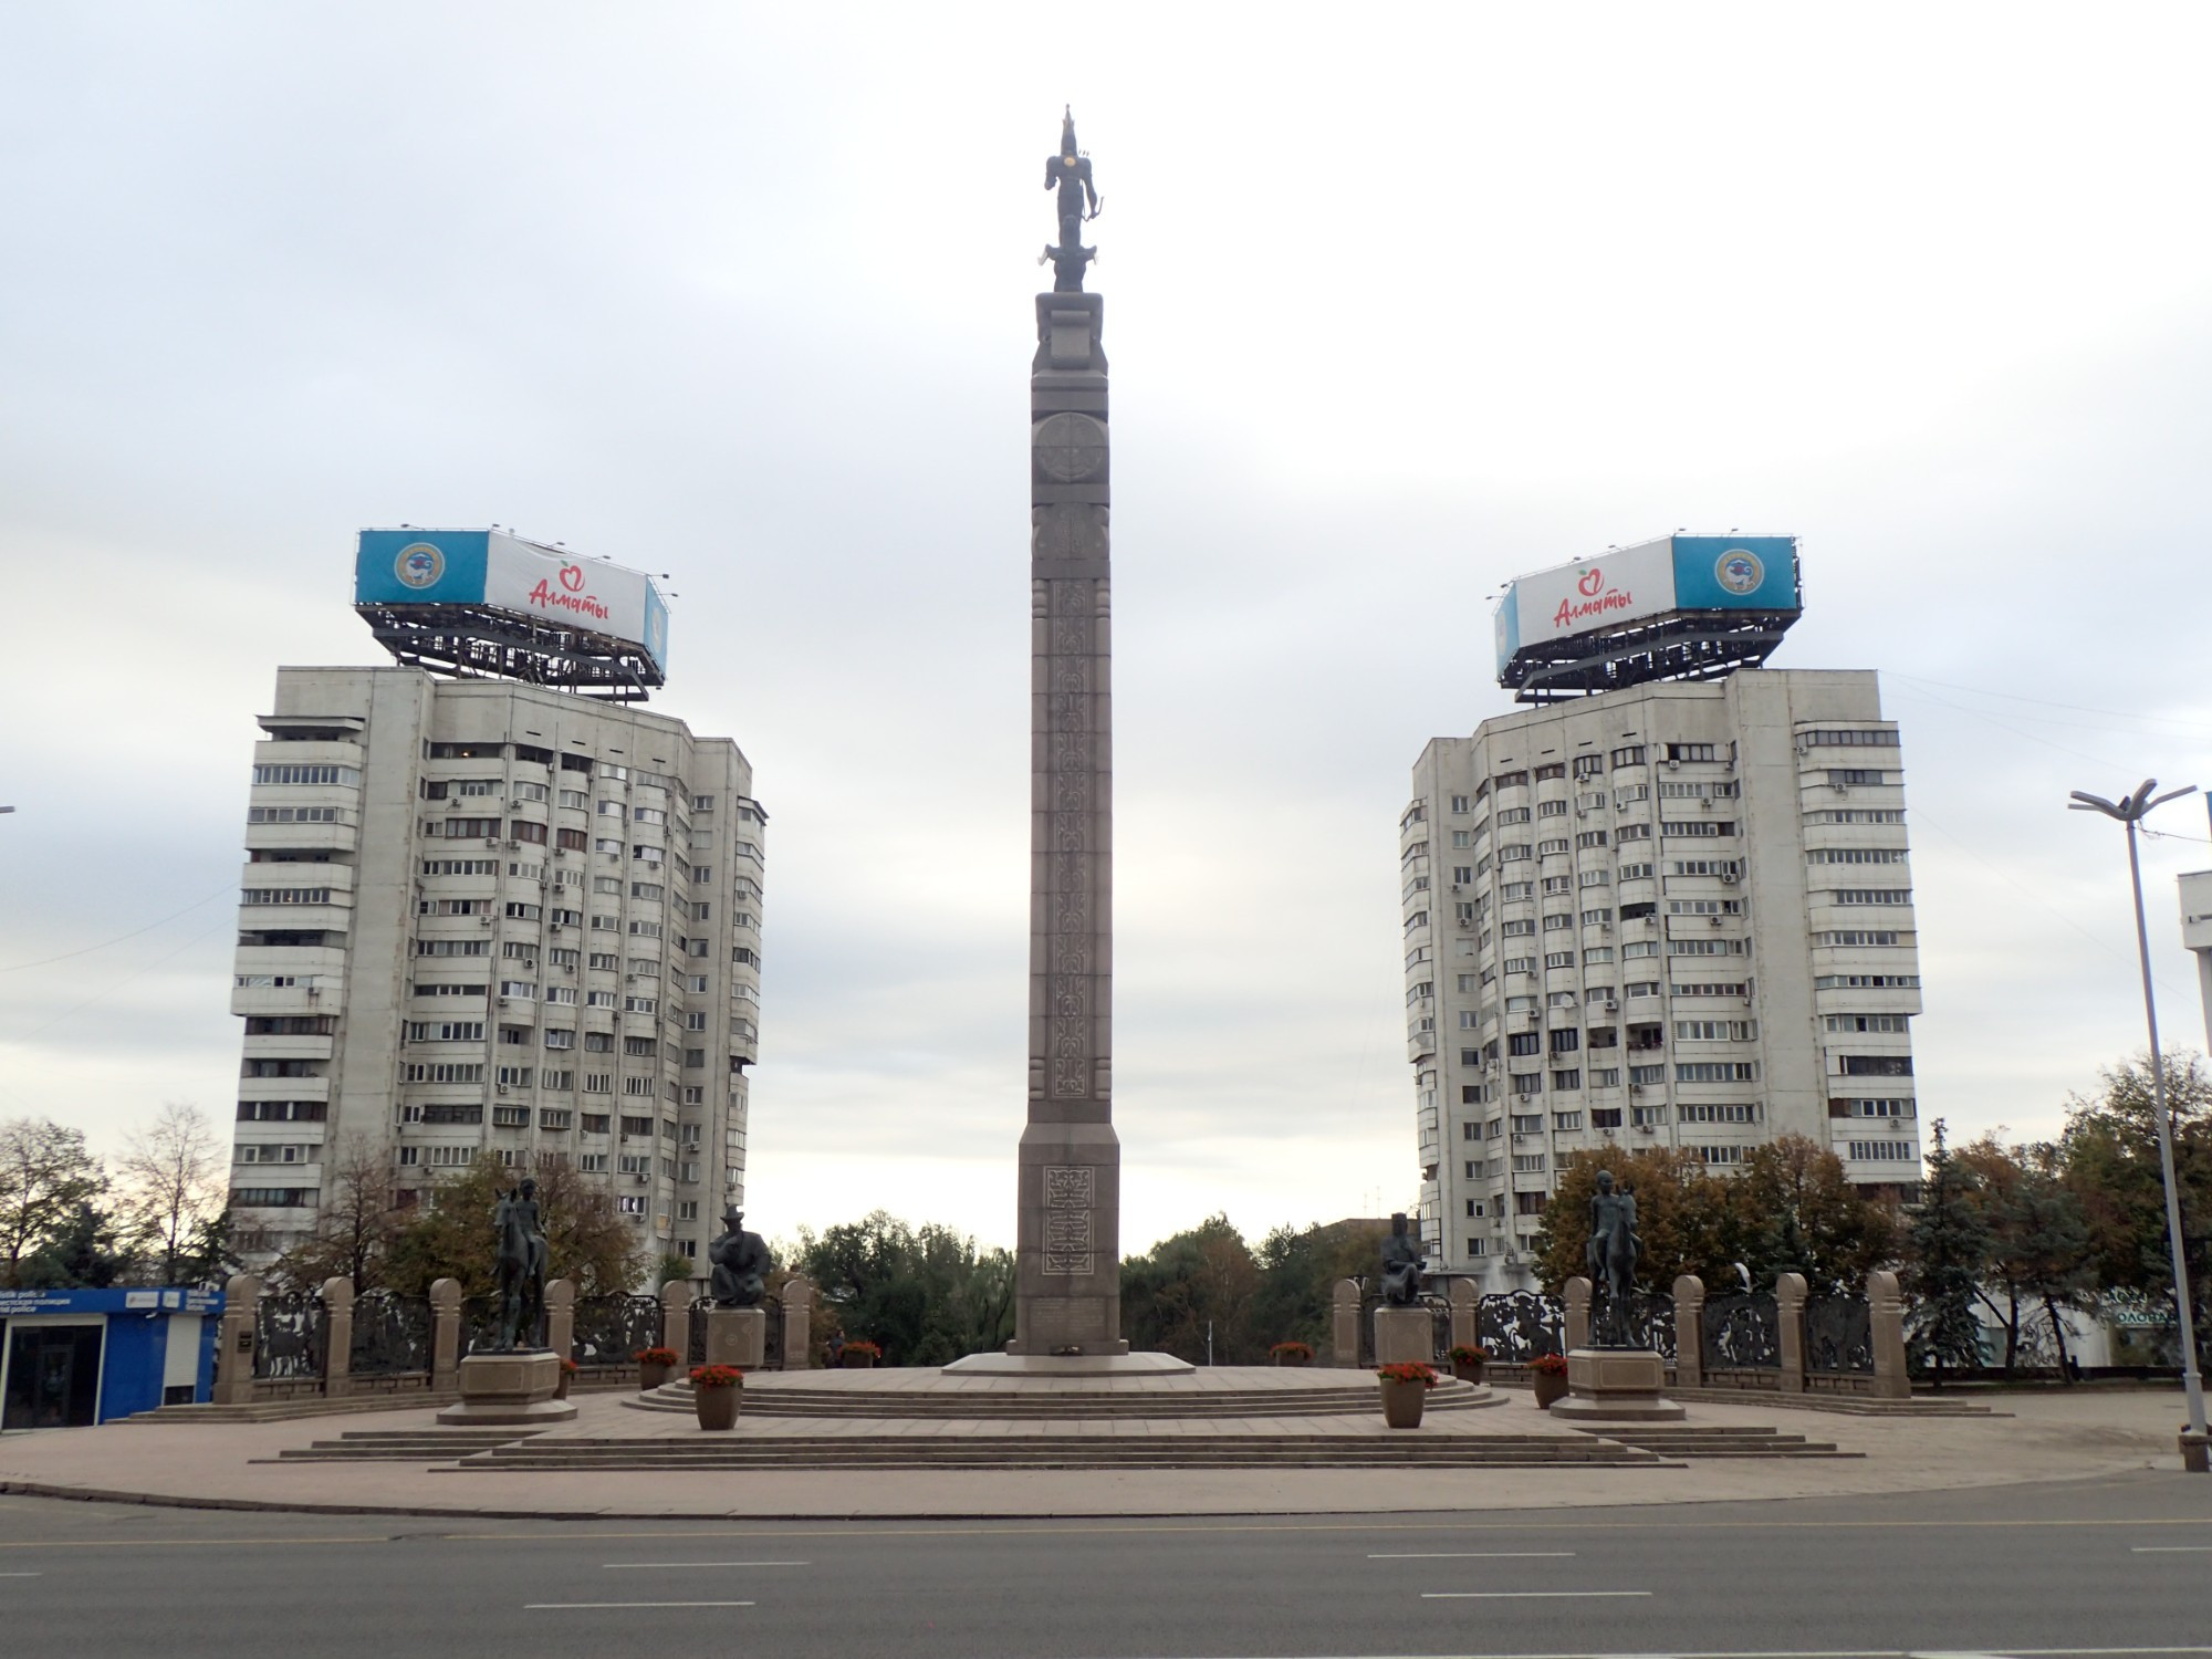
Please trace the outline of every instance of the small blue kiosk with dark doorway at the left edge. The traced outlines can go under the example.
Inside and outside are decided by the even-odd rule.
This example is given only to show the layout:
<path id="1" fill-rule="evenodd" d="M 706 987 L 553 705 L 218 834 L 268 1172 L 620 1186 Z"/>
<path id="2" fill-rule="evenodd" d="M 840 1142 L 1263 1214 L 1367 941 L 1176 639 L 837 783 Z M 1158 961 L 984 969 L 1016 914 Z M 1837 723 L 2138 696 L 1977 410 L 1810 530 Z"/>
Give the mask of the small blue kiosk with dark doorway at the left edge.
<path id="1" fill-rule="evenodd" d="M 0 1429 L 212 1398 L 221 1314 L 219 1290 L 0 1290 Z"/>

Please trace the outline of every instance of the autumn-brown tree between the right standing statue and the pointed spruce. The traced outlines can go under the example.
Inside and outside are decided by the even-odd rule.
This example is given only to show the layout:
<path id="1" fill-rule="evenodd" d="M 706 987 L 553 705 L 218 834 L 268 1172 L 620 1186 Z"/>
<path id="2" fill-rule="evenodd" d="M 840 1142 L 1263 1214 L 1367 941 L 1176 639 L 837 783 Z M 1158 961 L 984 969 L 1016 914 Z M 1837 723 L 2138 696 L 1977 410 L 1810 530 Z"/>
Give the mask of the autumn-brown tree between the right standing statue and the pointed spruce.
<path id="1" fill-rule="evenodd" d="M 1891 1261 L 1898 1225 L 1887 1208 L 1845 1177 L 1834 1150 L 1803 1135 L 1778 1135 L 1743 1155 L 1730 1181 L 1734 1232 L 1761 1283 L 1805 1274 L 1814 1296 L 1858 1296 L 1867 1274 Z"/>

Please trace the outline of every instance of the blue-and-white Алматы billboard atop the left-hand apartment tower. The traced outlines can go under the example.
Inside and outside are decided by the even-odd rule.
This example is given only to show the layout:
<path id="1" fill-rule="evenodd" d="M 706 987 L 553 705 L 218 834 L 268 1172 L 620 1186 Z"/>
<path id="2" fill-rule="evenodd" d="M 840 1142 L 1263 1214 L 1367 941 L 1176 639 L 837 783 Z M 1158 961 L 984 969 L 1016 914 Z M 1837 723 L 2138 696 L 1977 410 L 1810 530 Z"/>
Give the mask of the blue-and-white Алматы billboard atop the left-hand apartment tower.
<path id="1" fill-rule="evenodd" d="M 482 606 L 637 646 L 668 672 L 668 604 L 641 571 L 507 531 L 361 531 L 356 606 Z"/>

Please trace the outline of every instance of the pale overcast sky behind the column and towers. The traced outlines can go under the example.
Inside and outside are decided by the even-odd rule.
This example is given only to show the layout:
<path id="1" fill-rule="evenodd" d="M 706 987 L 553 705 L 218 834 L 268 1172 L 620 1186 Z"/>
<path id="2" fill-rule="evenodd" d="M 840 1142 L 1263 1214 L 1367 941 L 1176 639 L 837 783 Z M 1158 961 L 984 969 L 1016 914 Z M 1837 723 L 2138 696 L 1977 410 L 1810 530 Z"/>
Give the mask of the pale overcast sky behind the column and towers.
<path id="1" fill-rule="evenodd" d="M 0 9 L 0 1115 L 230 1117 L 363 524 L 672 573 L 772 812 L 750 1210 L 1013 1234 L 1042 164 L 1106 197 L 1124 1245 L 1409 1208 L 1396 821 L 1515 573 L 1803 538 L 1905 728 L 1922 1110 L 2141 1046 L 2070 787 L 2212 783 L 2203 7 Z M 2201 1046 L 2146 849 L 2172 1040 Z M 128 936 L 128 938 L 122 938 Z M 60 960 L 53 960 L 60 958 Z"/>

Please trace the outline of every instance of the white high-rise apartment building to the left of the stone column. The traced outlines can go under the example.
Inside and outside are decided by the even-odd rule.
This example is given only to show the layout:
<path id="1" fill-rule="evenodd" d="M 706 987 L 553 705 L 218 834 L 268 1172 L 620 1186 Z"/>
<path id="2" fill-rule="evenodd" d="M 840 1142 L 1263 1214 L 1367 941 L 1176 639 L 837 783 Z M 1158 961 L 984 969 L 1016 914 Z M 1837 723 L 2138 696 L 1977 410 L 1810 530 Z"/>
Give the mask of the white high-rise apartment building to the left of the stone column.
<path id="1" fill-rule="evenodd" d="M 281 668 L 246 825 L 230 1201 L 265 1259 L 334 1159 L 602 1177 L 653 1254 L 743 1201 L 768 814 L 737 743 L 420 668 Z"/>

